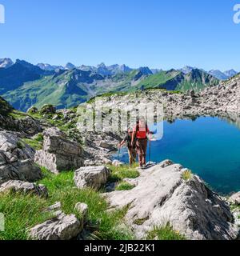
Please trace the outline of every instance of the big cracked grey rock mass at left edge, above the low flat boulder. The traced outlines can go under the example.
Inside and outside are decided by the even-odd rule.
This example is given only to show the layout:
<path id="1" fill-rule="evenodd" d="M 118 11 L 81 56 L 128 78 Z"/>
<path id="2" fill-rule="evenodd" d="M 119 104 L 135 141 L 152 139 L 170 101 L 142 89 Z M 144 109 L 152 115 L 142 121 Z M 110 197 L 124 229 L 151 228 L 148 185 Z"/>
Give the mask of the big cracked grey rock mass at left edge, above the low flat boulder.
<path id="1" fill-rule="evenodd" d="M 34 150 L 15 134 L 0 131 L 0 184 L 9 180 L 35 182 L 42 178 L 34 164 Z"/>

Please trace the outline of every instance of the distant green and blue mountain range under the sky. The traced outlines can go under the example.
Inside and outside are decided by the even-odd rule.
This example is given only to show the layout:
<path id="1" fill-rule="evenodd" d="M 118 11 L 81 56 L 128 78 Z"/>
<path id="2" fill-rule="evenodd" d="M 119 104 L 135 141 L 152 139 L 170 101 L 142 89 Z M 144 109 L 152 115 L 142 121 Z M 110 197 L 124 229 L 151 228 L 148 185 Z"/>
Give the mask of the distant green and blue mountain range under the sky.
<path id="1" fill-rule="evenodd" d="M 220 72 L 220 71 L 219 71 Z M 186 66 L 181 70 L 150 70 L 149 67 L 130 68 L 126 65 L 51 66 L 33 65 L 10 58 L 0 61 L 0 94 L 14 108 L 26 111 L 30 106 L 54 104 L 60 108 L 76 106 L 105 93 L 133 92 L 150 88 L 166 90 L 202 90 L 216 86 L 220 76 Z M 222 73 L 223 74 L 223 73 Z M 224 73 L 228 77 L 234 70 Z"/>

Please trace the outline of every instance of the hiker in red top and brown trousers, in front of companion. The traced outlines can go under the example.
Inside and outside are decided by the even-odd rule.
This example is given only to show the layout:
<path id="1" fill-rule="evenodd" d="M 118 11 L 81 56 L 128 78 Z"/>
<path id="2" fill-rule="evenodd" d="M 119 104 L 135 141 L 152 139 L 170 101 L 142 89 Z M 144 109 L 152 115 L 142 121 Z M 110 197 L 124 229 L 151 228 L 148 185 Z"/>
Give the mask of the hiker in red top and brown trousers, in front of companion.
<path id="1" fill-rule="evenodd" d="M 147 134 L 150 135 L 152 133 L 150 133 L 150 130 L 145 122 L 145 118 L 140 118 L 133 130 L 132 145 L 136 139 L 138 162 L 141 169 L 146 167 Z"/>

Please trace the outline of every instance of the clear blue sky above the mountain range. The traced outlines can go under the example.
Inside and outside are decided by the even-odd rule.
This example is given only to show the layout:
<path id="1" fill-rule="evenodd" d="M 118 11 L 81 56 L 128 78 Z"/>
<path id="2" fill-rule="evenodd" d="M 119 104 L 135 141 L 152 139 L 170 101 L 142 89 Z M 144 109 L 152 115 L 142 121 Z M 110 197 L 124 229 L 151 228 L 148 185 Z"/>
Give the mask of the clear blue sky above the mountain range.
<path id="1" fill-rule="evenodd" d="M 0 0 L 0 58 L 240 71 L 240 0 Z"/>

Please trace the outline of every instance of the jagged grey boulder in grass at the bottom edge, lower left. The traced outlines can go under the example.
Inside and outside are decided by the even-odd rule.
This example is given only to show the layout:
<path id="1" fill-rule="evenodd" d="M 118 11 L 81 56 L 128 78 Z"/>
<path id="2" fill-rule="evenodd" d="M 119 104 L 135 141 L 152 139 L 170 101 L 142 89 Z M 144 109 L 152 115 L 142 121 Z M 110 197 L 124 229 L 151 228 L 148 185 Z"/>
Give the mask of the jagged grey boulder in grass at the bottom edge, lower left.
<path id="1" fill-rule="evenodd" d="M 30 238 L 35 240 L 70 240 L 82 232 L 81 223 L 74 214 L 58 211 L 56 216 L 30 229 Z"/>

